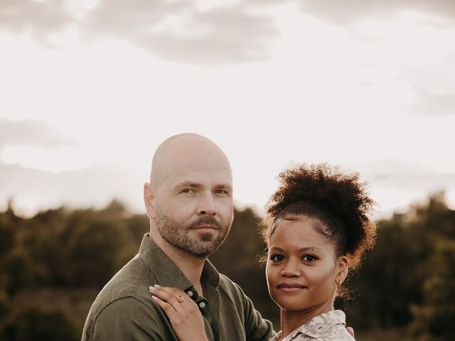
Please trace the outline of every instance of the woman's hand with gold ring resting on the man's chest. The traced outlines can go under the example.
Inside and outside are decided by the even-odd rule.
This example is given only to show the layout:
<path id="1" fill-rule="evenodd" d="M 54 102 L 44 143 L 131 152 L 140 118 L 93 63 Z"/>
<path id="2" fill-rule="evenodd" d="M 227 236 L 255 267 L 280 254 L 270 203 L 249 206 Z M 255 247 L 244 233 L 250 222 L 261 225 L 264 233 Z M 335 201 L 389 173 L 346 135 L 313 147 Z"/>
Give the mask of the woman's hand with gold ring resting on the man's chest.
<path id="1" fill-rule="evenodd" d="M 150 286 L 151 298 L 163 309 L 180 341 L 204 341 L 204 320 L 198 305 L 179 288 Z"/>

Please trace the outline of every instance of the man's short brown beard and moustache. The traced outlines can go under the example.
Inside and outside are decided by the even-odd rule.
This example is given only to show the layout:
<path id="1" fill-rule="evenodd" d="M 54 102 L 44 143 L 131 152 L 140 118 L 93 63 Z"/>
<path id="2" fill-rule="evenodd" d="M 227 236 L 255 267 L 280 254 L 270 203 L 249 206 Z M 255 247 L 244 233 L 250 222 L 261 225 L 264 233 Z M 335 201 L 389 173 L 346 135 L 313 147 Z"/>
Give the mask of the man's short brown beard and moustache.
<path id="1" fill-rule="evenodd" d="M 205 224 L 213 225 L 218 229 L 208 233 L 197 233 L 195 230 L 196 236 L 190 237 L 188 232 L 191 229 Z M 156 207 L 156 227 L 161 237 L 173 247 L 199 258 L 213 254 L 223 244 L 226 237 L 228 237 L 230 224 L 223 225 L 215 217 L 200 217 L 194 222 L 183 226 L 165 215 L 159 207 Z"/>

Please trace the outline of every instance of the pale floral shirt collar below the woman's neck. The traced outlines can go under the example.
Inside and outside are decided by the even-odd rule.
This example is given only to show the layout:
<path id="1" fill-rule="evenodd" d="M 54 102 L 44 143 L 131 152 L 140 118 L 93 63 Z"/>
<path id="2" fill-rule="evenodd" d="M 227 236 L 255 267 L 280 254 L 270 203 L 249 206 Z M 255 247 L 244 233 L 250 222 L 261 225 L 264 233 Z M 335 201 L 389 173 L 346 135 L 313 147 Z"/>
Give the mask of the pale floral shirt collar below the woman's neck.
<path id="1" fill-rule="evenodd" d="M 291 334 L 284 339 L 281 338 L 282 332 L 279 332 L 276 336 L 278 338 L 272 340 L 291 341 L 299 334 L 308 335 L 309 337 L 314 337 L 316 339 L 321 337 L 321 335 L 327 332 L 334 325 L 340 324 L 346 325 L 346 315 L 341 310 L 331 310 L 327 313 L 322 313 L 321 315 L 311 318 L 311 320 L 291 332 Z"/>

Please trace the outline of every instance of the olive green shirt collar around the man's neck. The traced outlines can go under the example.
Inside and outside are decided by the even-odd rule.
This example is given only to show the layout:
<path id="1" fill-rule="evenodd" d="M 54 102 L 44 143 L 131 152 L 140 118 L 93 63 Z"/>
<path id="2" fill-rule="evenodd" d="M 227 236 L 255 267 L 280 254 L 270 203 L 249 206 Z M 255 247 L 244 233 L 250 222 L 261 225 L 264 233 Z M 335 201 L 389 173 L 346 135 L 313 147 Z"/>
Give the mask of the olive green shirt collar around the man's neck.
<path id="1" fill-rule="evenodd" d="M 148 233 L 142 239 L 139 257 L 149 266 L 160 286 L 175 286 L 183 291 L 193 286 L 176 264 L 149 238 Z M 220 274 L 208 259 L 205 260 L 201 277 L 205 284 L 215 288 L 220 285 Z"/>

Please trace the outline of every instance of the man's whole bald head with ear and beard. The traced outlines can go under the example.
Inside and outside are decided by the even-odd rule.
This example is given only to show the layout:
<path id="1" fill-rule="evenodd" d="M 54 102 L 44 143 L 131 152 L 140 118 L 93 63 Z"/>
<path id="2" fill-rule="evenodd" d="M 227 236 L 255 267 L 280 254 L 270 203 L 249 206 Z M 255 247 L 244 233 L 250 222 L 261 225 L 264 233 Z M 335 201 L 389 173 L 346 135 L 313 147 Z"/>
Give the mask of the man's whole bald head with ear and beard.
<path id="1" fill-rule="evenodd" d="M 179 134 L 156 149 L 144 184 L 150 238 L 169 254 L 203 259 L 229 233 L 232 173 L 225 153 L 197 134 Z"/>

